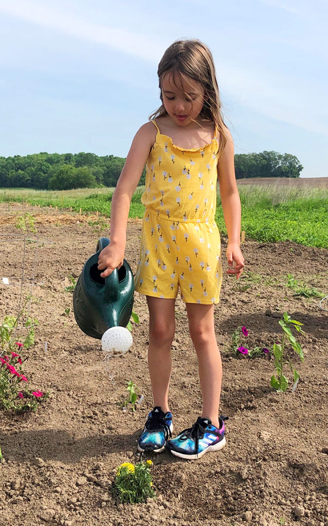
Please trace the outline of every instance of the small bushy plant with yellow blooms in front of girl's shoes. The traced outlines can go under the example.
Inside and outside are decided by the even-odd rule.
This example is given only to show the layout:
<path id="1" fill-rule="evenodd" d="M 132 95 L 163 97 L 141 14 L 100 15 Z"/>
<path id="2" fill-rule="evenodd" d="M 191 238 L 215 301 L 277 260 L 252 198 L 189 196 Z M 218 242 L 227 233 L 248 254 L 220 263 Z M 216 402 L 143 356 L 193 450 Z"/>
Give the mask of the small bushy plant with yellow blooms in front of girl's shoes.
<path id="1" fill-rule="evenodd" d="M 151 466 L 151 460 L 138 462 L 135 465 L 131 462 L 121 464 L 117 468 L 112 484 L 114 497 L 123 504 L 146 502 L 148 498 L 154 498 L 155 492 L 152 488 Z"/>

